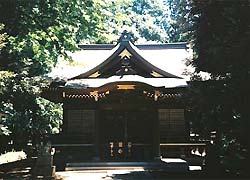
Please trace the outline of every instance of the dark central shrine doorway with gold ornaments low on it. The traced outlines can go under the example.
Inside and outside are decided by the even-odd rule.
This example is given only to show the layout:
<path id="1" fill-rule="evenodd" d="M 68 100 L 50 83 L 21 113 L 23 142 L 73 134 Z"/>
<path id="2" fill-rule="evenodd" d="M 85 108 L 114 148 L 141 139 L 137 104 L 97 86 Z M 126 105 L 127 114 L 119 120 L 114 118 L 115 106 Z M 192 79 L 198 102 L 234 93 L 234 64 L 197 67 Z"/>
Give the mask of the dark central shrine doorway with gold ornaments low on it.
<path id="1" fill-rule="evenodd" d="M 112 161 L 153 158 L 152 110 L 103 110 L 99 123 L 101 158 Z"/>

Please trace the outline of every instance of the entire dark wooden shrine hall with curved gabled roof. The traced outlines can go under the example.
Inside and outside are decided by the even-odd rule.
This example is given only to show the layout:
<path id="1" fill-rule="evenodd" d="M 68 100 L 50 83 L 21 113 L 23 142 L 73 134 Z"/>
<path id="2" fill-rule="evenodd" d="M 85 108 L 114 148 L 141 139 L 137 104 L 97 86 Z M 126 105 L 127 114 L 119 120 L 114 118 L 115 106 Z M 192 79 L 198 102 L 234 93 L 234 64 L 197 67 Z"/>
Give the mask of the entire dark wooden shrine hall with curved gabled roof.
<path id="1" fill-rule="evenodd" d="M 160 144 L 186 141 L 187 84 L 174 59 L 187 57 L 186 43 L 136 45 L 125 31 L 116 45 L 79 49 L 79 61 L 99 64 L 42 93 L 63 103 L 61 132 L 52 137 L 57 153 L 68 161 L 152 160 L 163 155 Z"/>

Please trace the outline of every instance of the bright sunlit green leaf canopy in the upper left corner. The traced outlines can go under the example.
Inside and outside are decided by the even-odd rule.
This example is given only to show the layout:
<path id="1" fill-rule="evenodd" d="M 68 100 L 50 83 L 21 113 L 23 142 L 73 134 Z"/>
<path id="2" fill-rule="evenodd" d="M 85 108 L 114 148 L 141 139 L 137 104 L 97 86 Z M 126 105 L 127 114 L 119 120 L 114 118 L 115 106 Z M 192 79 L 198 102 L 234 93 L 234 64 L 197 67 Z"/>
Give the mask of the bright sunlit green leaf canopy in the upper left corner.
<path id="1" fill-rule="evenodd" d="M 48 73 L 59 55 L 67 57 L 79 39 L 98 32 L 100 16 L 92 1 L 1 0 L 0 11 L 0 23 L 10 36 L 0 62 L 18 74 Z"/>

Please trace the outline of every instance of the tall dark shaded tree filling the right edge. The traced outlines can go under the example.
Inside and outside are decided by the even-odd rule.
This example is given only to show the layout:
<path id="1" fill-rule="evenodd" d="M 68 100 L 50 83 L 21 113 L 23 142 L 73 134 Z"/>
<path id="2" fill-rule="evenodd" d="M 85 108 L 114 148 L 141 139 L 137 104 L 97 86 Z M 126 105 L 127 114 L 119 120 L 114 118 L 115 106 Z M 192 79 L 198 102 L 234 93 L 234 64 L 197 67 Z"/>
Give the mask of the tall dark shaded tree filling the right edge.
<path id="1" fill-rule="evenodd" d="M 233 173 L 247 173 L 250 152 L 249 1 L 193 1 L 196 72 L 211 74 L 193 83 L 200 99 L 195 112 L 205 132 L 216 130 L 218 158 Z M 197 98 L 194 98 L 197 100 Z"/>

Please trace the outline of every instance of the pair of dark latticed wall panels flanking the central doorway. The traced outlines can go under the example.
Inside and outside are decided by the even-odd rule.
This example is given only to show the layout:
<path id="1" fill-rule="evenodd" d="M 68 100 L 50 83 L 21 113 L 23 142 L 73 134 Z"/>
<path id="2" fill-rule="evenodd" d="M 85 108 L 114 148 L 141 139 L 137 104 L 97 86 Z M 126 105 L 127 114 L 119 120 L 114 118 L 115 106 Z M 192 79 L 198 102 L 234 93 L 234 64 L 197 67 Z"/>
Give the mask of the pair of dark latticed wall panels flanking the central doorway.
<path id="1" fill-rule="evenodd" d="M 65 109 L 66 132 L 81 136 L 81 142 L 94 142 L 96 136 L 96 110 Z M 156 117 L 157 118 L 157 117 Z M 185 142 L 184 109 L 158 109 L 160 143 Z"/>

